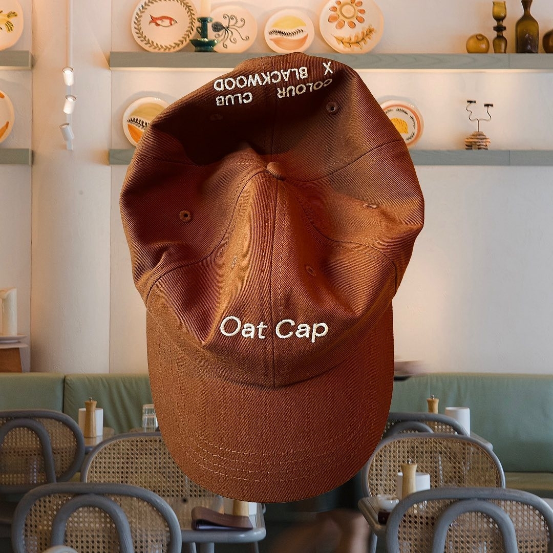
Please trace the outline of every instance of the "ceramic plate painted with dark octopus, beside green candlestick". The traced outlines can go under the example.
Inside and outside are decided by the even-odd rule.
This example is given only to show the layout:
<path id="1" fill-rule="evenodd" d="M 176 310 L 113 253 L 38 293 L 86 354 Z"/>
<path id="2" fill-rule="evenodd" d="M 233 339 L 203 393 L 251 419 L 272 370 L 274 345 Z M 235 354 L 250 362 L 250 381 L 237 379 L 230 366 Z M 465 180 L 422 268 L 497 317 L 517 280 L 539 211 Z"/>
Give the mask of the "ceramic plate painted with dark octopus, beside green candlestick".
<path id="1" fill-rule="evenodd" d="M 216 52 L 246 51 L 257 36 L 257 22 L 247 9 L 239 6 L 220 6 L 211 12 L 209 38 L 217 39 Z"/>

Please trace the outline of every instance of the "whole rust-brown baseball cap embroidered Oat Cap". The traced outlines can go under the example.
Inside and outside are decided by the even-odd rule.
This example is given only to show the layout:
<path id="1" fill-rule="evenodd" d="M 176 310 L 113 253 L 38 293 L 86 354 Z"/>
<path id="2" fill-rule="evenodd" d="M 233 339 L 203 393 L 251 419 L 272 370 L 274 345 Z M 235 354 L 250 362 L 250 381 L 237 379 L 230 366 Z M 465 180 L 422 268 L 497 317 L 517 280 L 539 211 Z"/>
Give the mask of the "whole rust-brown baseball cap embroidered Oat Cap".
<path id="1" fill-rule="evenodd" d="M 388 416 L 392 298 L 424 218 L 356 71 L 268 56 L 176 101 L 140 139 L 121 213 L 182 471 L 252 502 L 356 474 Z"/>

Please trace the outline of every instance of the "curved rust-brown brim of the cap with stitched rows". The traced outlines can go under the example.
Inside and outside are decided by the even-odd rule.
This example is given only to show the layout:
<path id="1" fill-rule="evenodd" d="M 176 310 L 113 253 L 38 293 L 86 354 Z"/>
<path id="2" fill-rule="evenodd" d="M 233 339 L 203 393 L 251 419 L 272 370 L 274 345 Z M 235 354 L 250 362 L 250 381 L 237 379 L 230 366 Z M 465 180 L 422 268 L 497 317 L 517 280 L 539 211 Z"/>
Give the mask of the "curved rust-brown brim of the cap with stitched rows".
<path id="1" fill-rule="evenodd" d="M 161 435 L 195 483 L 251 502 L 288 502 L 353 477 L 380 440 L 393 388 L 392 305 L 345 361 L 283 387 L 237 384 L 194 366 L 147 313 Z"/>

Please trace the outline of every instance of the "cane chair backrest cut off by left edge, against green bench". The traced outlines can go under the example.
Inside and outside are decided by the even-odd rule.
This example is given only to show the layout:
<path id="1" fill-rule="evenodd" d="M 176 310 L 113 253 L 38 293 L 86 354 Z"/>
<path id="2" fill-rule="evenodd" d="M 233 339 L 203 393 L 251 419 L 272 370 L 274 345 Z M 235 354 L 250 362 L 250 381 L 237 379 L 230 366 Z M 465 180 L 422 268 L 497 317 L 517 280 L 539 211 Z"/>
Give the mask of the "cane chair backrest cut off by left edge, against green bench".
<path id="1" fill-rule="evenodd" d="M 84 456 L 84 437 L 69 415 L 49 409 L 0 411 L 0 494 L 68 481 Z"/>

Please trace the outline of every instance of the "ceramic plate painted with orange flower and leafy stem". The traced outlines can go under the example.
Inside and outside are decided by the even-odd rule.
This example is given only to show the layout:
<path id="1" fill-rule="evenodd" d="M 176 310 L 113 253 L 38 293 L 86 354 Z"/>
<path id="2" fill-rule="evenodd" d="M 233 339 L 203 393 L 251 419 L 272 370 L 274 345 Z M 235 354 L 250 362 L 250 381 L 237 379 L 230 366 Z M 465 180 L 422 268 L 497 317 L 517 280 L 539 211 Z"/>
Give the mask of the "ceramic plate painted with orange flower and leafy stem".
<path id="1" fill-rule="evenodd" d="M 330 0 L 322 8 L 319 28 L 337 52 L 363 54 L 382 38 L 384 17 L 374 0 Z"/>

